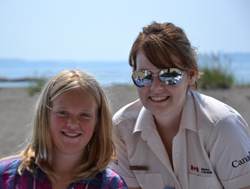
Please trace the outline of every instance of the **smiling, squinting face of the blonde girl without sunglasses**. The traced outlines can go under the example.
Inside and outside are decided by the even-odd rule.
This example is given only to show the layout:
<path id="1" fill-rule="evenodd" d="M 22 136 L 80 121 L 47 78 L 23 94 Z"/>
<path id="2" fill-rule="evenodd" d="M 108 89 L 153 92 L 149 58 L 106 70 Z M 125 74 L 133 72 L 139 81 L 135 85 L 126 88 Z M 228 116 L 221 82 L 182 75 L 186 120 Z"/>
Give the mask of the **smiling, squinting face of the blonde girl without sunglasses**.
<path id="1" fill-rule="evenodd" d="M 60 94 L 52 102 L 50 130 L 53 153 L 84 153 L 97 122 L 97 104 L 91 96 L 74 89 Z"/>

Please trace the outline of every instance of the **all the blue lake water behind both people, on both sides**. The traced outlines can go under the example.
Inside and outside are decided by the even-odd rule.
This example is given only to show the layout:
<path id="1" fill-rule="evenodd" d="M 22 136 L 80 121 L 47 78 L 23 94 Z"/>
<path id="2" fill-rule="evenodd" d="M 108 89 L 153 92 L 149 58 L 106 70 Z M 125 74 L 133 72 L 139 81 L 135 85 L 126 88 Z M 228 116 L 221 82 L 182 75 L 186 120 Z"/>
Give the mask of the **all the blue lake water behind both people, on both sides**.
<path id="1" fill-rule="evenodd" d="M 226 57 L 226 58 L 225 58 Z M 214 63 L 198 59 L 199 65 Z M 250 53 L 234 53 L 221 56 L 222 69 L 233 73 L 237 83 L 250 83 Z M 19 79 L 25 77 L 51 77 L 65 69 L 81 69 L 92 74 L 101 85 L 132 84 L 131 71 L 127 61 L 24 61 L 0 59 L 0 78 Z M 32 83 L 0 82 L 0 87 L 28 87 Z"/>

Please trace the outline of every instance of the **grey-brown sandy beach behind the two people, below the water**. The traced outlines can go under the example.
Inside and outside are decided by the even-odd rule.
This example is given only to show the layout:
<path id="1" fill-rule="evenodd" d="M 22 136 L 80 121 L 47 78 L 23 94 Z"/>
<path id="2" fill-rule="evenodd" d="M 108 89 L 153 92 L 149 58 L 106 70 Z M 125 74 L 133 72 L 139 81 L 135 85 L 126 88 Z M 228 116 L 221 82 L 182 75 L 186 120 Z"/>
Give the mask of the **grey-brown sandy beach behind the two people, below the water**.
<path id="1" fill-rule="evenodd" d="M 113 85 L 105 87 L 112 113 L 138 99 L 134 86 Z M 236 109 L 250 124 L 250 88 L 199 91 Z M 38 94 L 29 96 L 26 88 L 0 88 L 0 158 L 21 148 L 32 131 L 34 102 Z"/>

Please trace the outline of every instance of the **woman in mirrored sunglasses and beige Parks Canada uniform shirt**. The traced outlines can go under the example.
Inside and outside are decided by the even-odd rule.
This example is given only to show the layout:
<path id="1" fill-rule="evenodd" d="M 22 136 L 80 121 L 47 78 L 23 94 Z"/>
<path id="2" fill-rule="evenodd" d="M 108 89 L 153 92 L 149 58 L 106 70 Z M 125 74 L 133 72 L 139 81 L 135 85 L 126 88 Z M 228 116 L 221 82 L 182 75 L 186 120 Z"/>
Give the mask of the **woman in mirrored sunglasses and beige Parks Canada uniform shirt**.
<path id="1" fill-rule="evenodd" d="M 250 132 L 241 115 L 199 94 L 195 49 L 172 23 L 153 22 L 129 57 L 139 100 L 113 117 L 129 188 L 250 188 Z"/>

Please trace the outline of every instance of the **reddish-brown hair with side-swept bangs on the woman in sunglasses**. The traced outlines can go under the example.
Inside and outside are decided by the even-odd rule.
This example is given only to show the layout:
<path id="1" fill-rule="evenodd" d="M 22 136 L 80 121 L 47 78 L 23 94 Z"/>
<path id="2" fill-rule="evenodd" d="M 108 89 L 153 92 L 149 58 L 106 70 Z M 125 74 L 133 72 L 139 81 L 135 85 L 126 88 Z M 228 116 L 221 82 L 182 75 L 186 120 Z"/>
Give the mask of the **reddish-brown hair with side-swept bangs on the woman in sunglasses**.
<path id="1" fill-rule="evenodd" d="M 196 48 L 191 47 L 184 30 L 172 23 L 153 22 L 142 28 L 129 55 L 129 64 L 134 70 L 137 68 L 136 56 L 140 50 L 152 64 L 160 69 L 166 68 L 166 62 L 178 68 L 179 65 L 176 65 L 170 56 L 173 54 L 180 58 L 183 68 L 188 67 L 194 70 L 196 76 L 199 77 Z M 197 82 L 193 87 L 198 88 Z"/>

